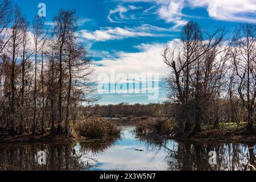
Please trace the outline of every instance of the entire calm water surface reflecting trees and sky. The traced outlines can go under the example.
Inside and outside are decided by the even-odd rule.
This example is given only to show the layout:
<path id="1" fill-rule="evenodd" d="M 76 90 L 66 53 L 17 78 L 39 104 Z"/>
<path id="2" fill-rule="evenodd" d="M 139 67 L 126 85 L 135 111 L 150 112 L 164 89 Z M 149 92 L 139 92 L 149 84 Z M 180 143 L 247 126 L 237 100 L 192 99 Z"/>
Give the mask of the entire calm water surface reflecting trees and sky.
<path id="1" fill-rule="evenodd" d="M 221 142 L 177 142 L 136 138 L 133 127 L 123 128 L 118 141 L 52 144 L 1 144 L 0 169 L 4 170 L 252 170 L 256 145 Z M 35 158 L 46 152 L 46 165 Z M 217 152 L 210 166 L 209 152 Z M 212 160 L 211 160 L 212 161 Z"/>

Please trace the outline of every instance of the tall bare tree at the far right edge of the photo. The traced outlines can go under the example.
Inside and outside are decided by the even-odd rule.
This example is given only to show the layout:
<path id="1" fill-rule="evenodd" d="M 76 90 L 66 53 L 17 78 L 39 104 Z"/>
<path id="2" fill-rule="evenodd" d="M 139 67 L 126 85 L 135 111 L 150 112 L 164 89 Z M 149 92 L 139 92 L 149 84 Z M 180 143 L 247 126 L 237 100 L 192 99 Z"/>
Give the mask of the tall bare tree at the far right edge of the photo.
<path id="1" fill-rule="evenodd" d="M 253 130 L 256 97 L 256 25 L 240 24 L 234 31 L 233 64 L 236 69 L 238 93 L 247 109 L 247 130 Z"/>

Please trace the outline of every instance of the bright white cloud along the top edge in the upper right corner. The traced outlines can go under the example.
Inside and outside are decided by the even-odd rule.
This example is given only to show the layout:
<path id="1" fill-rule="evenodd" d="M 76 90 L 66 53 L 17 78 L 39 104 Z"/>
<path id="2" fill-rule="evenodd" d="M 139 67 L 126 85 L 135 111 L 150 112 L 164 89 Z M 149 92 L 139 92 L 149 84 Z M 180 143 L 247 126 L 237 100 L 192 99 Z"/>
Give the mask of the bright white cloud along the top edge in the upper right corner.
<path id="1" fill-rule="evenodd" d="M 175 23 L 176 27 L 183 18 L 184 7 L 207 9 L 211 18 L 232 22 L 256 22 L 255 0 L 121 0 L 122 2 L 147 2 L 153 4 L 144 13 L 157 13 L 161 19 Z M 156 10 L 155 10 L 156 9 Z M 151 10 L 155 10 L 152 12 Z M 185 20 L 182 19 L 184 22 Z"/>

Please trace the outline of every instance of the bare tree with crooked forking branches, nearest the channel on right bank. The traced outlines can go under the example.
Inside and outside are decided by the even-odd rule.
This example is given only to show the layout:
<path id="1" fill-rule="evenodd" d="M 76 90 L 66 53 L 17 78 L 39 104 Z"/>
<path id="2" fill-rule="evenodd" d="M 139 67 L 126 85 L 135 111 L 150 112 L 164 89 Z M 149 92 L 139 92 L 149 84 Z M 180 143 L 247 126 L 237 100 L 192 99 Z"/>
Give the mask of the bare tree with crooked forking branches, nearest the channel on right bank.
<path id="1" fill-rule="evenodd" d="M 203 59 L 204 56 L 218 46 L 225 32 L 217 28 L 212 34 L 205 31 L 201 32 L 199 25 L 195 22 L 189 22 L 181 31 L 181 43 L 179 49 L 166 46 L 163 52 L 164 63 L 171 68 L 171 75 L 168 83 L 175 92 L 175 100 L 180 102 L 183 110 L 181 118 L 185 120 L 184 132 L 190 130 L 189 120 L 189 102 L 191 100 L 191 90 L 189 89 L 189 77 L 191 75 L 192 64 Z M 172 84 L 174 83 L 174 84 Z M 195 131 L 200 131 L 199 124 L 196 122 Z"/>

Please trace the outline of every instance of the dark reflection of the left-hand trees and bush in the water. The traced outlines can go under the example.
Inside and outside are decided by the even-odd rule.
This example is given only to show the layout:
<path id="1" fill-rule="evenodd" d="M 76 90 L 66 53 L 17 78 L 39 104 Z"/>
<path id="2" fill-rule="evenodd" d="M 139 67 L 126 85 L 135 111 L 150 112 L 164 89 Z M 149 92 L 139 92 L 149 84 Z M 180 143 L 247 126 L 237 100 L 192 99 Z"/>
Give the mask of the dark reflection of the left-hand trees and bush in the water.
<path id="1" fill-rule="evenodd" d="M 32 171 L 80 171 L 93 167 L 96 160 L 86 155 L 104 152 L 111 142 L 82 142 L 80 150 L 75 151 L 75 144 L 30 144 L 30 145 L 1 145 L 0 167 L 4 170 Z M 38 151 L 46 152 L 46 165 L 40 166 L 35 160 Z"/>

